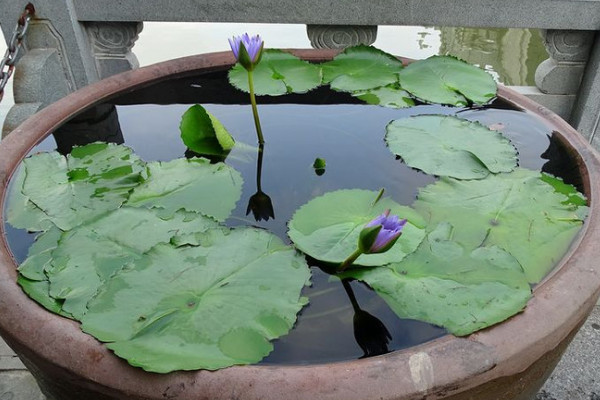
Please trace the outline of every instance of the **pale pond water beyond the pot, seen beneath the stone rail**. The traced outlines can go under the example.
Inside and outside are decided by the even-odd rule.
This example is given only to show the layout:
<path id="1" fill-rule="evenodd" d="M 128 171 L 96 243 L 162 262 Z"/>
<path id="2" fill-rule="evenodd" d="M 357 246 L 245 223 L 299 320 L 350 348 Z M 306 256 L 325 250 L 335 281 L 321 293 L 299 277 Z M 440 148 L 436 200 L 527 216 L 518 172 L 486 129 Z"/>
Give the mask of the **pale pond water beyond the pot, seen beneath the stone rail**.
<path id="1" fill-rule="evenodd" d="M 266 47 L 310 47 L 305 25 L 145 22 L 132 51 L 140 66 L 146 66 L 187 55 L 229 50 L 227 38 L 242 32 L 260 33 L 267 41 Z M 379 26 L 374 45 L 414 59 L 451 54 L 481 66 L 505 85 L 518 86 L 535 85 L 535 69 L 548 58 L 537 29 Z M 0 40 L 0 54 L 5 50 L 5 41 Z M 11 78 L 0 104 L 0 126 L 13 104 Z"/>

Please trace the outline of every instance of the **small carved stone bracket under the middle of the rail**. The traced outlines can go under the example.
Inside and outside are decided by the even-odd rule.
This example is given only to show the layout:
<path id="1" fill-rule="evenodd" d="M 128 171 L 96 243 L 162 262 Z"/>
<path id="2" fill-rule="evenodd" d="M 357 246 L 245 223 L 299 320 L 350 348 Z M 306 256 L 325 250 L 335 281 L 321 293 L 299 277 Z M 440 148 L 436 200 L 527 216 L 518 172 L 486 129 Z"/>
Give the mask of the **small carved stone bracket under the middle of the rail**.
<path id="1" fill-rule="evenodd" d="M 306 33 L 315 49 L 344 49 L 373 44 L 377 39 L 377 26 L 307 25 Z"/>

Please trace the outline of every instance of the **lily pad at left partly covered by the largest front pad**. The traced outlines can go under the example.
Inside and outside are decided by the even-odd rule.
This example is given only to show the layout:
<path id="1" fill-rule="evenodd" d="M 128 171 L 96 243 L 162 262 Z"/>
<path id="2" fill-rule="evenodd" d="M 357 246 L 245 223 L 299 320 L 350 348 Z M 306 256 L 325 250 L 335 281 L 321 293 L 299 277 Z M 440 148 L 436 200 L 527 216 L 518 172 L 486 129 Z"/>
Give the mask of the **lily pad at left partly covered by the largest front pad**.
<path id="1" fill-rule="evenodd" d="M 156 214 L 123 207 L 65 232 L 46 268 L 50 296 L 62 302 L 64 313 L 81 319 L 88 301 L 106 280 L 156 244 L 217 225 L 208 217 L 184 211 L 170 219 Z"/>

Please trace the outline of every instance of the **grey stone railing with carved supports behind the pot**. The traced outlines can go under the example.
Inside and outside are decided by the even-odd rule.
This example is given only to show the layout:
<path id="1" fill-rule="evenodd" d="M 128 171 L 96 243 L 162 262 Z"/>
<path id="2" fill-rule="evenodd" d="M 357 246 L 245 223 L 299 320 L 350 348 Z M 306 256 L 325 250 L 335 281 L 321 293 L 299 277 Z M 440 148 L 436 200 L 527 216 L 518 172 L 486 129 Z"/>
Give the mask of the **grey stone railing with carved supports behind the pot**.
<path id="1" fill-rule="evenodd" d="M 313 47 L 373 43 L 378 25 L 543 29 L 536 86 L 513 87 L 600 148 L 600 0 L 29 0 L 36 9 L 4 133 L 69 92 L 137 67 L 143 21 L 301 23 Z M 12 34 L 28 0 L 0 0 Z"/>

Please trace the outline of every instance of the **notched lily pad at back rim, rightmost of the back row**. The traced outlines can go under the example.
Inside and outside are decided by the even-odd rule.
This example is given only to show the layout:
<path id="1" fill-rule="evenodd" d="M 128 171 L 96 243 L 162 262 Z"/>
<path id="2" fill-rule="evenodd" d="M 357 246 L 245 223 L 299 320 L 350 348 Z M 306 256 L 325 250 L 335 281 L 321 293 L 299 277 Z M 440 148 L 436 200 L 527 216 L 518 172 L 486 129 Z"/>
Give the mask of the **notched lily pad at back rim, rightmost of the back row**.
<path id="1" fill-rule="evenodd" d="M 496 96 L 494 78 L 484 70 L 451 56 L 432 56 L 400 72 L 400 85 L 429 103 L 465 106 L 484 104 Z"/>

